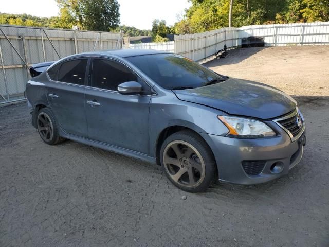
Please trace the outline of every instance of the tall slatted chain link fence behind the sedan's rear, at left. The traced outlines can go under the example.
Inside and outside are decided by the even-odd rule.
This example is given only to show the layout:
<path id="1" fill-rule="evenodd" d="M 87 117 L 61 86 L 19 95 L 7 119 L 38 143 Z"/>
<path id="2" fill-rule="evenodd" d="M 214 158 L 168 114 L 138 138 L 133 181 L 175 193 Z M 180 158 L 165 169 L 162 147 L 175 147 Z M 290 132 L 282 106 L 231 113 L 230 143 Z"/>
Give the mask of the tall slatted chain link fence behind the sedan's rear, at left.
<path id="1" fill-rule="evenodd" d="M 122 45 L 121 33 L 0 25 L 0 104 L 25 99 L 32 64 Z"/>

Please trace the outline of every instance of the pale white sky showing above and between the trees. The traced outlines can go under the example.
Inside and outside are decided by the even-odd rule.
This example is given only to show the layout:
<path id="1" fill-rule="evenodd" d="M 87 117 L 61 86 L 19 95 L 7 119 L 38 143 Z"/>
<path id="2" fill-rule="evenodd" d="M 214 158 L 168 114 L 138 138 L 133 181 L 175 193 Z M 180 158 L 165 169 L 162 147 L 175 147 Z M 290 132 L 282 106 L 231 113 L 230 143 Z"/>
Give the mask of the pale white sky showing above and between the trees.
<path id="1" fill-rule="evenodd" d="M 118 0 L 121 25 L 151 29 L 154 19 L 177 22 L 177 14 L 191 6 L 188 0 Z M 0 0 L 0 12 L 50 17 L 58 14 L 56 0 Z"/>

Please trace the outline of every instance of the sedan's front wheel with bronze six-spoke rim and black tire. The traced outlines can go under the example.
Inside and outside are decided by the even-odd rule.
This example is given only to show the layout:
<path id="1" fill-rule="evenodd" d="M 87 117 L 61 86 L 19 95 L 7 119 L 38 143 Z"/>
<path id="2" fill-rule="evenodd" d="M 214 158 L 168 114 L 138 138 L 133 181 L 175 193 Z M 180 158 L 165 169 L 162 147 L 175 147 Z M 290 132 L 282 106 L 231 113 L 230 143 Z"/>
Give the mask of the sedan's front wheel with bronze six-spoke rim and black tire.
<path id="1" fill-rule="evenodd" d="M 168 179 L 187 192 L 205 191 L 217 177 L 210 147 L 191 130 L 176 132 L 163 142 L 160 162 Z"/>

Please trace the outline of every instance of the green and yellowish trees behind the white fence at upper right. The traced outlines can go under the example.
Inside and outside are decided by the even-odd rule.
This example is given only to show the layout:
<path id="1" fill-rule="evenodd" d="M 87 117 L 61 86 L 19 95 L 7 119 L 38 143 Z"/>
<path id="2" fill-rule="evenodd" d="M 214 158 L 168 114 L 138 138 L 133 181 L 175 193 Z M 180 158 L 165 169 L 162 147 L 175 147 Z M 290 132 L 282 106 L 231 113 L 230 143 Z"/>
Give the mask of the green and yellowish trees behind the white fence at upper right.
<path id="1" fill-rule="evenodd" d="M 177 33 L 228 26 L 230 0 L 191 0 Z M 329 0 L 234 0 L 232 26 L 329 21 Z"/>

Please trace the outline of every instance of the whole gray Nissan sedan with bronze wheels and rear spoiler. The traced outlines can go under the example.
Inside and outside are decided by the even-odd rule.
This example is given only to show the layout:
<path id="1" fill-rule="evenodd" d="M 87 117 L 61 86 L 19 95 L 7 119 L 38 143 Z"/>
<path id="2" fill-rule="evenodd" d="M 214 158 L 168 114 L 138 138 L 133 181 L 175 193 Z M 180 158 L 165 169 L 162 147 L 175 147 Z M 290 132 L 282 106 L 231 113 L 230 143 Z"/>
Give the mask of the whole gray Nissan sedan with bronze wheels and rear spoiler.
<path id="1" fill-rule="evenodd" d="M 30 71 L 32 125 L 46 144 L 71 139 L 156 163 L 189 192 L 216 180 L 267 182 L 302 158 L 305 124 L 293 98 L 177 54 L 89 52 Z"/>

